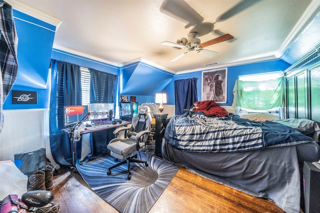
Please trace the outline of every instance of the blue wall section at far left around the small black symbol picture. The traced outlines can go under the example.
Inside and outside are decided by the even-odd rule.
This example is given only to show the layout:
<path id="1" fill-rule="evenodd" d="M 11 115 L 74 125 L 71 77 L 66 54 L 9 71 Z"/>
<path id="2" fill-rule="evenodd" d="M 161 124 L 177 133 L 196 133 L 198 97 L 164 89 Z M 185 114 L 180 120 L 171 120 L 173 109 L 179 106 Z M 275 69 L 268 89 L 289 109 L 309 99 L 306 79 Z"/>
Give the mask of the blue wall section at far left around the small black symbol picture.
<path id="1" fill-rule="evenodd" d="M 9 92 L 3 109 L 48 108 L 48 67 L 55 26 L 13 10 L 18 36 L 18 69 L 12 90 L 37 92 L 37 104 L 12 104 Z"/>

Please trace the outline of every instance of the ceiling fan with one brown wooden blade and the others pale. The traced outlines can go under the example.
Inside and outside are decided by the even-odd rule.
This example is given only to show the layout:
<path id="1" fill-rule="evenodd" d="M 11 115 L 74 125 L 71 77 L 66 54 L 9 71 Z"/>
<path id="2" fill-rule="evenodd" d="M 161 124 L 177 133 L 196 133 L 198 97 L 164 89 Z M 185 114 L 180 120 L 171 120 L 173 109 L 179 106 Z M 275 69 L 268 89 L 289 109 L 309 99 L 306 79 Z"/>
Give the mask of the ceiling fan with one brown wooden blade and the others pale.
<path id="1" fill-rule="evenodd" d="M 173 43 L 170 41 L 161 42 L 161 44 L 163 44 L 163 45 L 173 46 L 173 47 L 177 47 L 177 48 L 184 48 L 187 50 L 186 52 L 184 52 L 184 53 L 178 55 L 177 57 L 173 58 L 172 60 L 170 60 L 170 62 L 176 61 L 179 58 L 181 58 L 183 55 L 189 53 L 190 51 L 194 51 L 194 50 L 197 53 L 200 53 L 206 57 L 212 57 L 217 52 L 212 51 L 212 50 L 208 50 L 208 49 L 203 49 L 203 47 L 206 47 L 206 46 L 209 46 L 209 45 L 212 45 L 215 43 L 219 43 L 222 41 L 230 40 L 233 38 L 233 36 L 230 34 L 224 34 L 219 37 L 216 37 L 216 38 L 213 38 L 211 40 L 208 40 L 208 41 L 201 43 L 200 39 L 198 38 L 198 35 L 199 34 L 197 32 L 189 32 L 186 37 L 182 37 L 182 38 L 178 39 L 176 41 L 176 43 Z"/>

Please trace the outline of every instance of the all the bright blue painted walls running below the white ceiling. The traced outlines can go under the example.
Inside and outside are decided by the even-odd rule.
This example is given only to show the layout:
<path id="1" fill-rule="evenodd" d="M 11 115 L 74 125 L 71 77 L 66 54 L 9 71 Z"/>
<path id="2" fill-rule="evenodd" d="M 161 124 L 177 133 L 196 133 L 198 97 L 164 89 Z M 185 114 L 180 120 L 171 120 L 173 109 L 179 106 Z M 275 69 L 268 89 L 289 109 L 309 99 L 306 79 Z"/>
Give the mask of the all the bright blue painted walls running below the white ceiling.
<path id="1" fill-rule="evenodd" d="M 38 102 L 37 104 L 12 104 L 10 92 L 3 104 L 3 109 L 49 108 L 51 58 L 119 75 L 118 95 L 128 95 L 129 98 L 136 96 L 139 104 L 154 102 L 155 93 L 162 91 L 167 93 L 167 104 L 174 104 L 174 80 L 192 77 L 198 78 L 197 96 L 198 100 L 201 99 L 202 71 L 175 75 L 142 61 L 119 67 L 52 49 L 55 26 L 16 10 L 13 10 L 13 15 L 18 35 L 18 72 L 12 89 L 37 91 Z M 227 101 L 221 105 L 232 104 L 232 89 L 238 75 L 282 71 L 289 65 L 282 59 L 276 59 L 227 67 Z"/>

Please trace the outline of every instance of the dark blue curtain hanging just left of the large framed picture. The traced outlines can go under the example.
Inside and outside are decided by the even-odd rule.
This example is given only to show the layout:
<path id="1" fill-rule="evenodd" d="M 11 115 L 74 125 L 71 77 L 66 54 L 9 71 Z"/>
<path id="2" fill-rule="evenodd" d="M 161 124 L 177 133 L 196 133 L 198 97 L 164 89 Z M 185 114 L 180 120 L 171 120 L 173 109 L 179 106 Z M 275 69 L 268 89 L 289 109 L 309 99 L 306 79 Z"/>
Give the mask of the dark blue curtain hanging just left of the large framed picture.
<path id="1" fill-rule="evenodd" d="M 174 80 L 175 114 L 182 114 L 184 108 L 190 108 L 197 101 L 196 81 L 198 78 Z"/>

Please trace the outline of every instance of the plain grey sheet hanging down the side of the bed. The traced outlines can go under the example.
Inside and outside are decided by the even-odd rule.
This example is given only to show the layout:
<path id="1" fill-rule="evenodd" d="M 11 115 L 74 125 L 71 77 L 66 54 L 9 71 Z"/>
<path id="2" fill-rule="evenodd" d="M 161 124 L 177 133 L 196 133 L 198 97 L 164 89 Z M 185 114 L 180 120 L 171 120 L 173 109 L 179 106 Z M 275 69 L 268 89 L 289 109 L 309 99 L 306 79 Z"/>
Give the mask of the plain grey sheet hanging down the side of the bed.
<path id="1" fill-rule="evenodd" d="M 162 155 L 165 160 L 215 182 L 271 200 L 285 212 L 300 210 L 300 172 L 295 145 L 200 153 L 176 149 L 163 139 Z M 318 157 L 317 152 L 313 158 Z"/>

